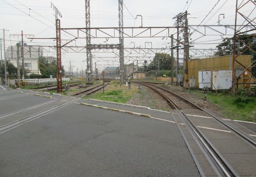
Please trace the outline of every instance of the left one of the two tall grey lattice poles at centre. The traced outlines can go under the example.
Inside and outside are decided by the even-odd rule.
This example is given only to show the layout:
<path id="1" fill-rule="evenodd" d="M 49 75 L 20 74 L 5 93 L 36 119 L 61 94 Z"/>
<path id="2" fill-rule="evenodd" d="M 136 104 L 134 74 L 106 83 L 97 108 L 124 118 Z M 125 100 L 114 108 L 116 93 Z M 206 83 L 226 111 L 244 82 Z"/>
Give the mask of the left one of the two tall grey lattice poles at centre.
<path id="1" fill-rule="evenodd" d="M 85 0 L 85 25 L 86 25 L 86 45 L 91 44 L 91 21 L 90 21 L 90 0 Z M 93 67 L 91 50 L 86 48 L 86 61 L 87 61 L 87 81 L 92 81 Z"/>

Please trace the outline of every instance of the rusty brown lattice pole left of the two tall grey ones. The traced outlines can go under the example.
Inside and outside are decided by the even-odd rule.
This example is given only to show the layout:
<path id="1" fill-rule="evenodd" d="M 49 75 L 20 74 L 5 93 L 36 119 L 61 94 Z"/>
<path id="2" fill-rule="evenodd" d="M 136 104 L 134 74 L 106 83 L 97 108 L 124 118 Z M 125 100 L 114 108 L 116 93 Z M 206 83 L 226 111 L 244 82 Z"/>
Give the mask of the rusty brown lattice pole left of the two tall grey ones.
<path id="1" fill-rule="evenodd" d="M 62 92 L 60 20 L 56 19 L 57 93 Z"/>

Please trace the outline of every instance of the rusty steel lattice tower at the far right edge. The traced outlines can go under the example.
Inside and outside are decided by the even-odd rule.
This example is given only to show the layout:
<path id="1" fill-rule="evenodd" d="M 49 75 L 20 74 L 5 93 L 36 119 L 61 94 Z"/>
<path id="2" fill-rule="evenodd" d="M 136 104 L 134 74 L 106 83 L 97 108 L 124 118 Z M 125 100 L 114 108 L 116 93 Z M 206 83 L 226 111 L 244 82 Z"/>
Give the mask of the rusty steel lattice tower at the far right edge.
<path id="1" fill-rule="evenodd" d="M 244 10 L 245 8 L 250 7 L 252 10 L 250 13 L 245 13 Z M 256 67 L 256 3 L 254 0 L 247 0 L 246 2 L 242 1 L 241 3 L 238 4 L 238 1 L 236 0 L 236 17 L 235 17 L 235 29 L 234 29 L 234 43 L 233 43 L 233 62 L 232 62 L 232 67 L 233 67 L 233 91 L 238 88 L 238 85 L 242 84 L 243 88 L 247 84 L 254 83 L 252 82 L 252 79 L 255 79 L 255 76 L 252 74 L 252 69 L 253 67 Z M 240 17 L 240 18 L 239 18 Z M 239 18 L 239 19 L 238 19 Z M 237 25 L 237 20 L 243 20 L 244 26 L 238 26 Z M 248 26 L 252 26 L 252 28 L 248 28 Z M 242 41 L 241 37 L 248 37 L 248 40 Z M 237 46 L 237 43 L 243 44 L 243 48 L 240 50 L 239 46 Z M 244 66 L 242 65 L 238 60 L 237 57 L 239 55 L 242 55 L 245 53 L 247 50 L 250 50 L 252 53 L 252 57 L 254 56 L 254 61 L 249 65 L 249 66 Z M 236 73 L 236 65 L 239 65 L 240 67 L 243 68 L 243 72 L 241 73 Z M 249 76 L 248 81 L 242 81 L 238 82 L 239 77 L 243 76 L 247 73 Z"/>

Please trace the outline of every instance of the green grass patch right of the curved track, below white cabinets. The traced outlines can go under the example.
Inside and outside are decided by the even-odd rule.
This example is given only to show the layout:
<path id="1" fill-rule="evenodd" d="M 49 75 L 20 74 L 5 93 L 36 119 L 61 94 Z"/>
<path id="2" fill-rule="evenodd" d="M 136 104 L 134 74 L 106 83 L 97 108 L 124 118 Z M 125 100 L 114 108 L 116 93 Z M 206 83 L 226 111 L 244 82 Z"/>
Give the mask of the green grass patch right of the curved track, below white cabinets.
<path id="1" fill-rule="evenodd" d="M 192 91 L 193 94 L 204 98 L 204 93 Z M 221 113 L 234 120 L 256 122 L 256 98 L 237 96 L 225 92 L 209 92 L 207 98 L 218 105 Z"/>

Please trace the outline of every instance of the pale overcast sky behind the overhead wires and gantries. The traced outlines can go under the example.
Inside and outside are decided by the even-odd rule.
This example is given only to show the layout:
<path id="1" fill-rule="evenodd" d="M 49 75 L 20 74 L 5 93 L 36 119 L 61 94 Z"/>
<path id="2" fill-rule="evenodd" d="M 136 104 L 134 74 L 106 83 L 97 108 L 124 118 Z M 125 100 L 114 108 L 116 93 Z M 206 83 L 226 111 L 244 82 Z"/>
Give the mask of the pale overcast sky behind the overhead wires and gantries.
<path id="1" fill-rule="evenodd" d="M 21 30 L 24 34 L 33 34 L 35 37 L 56 37 L 55 32 L 55 17 L 54 10 L 51 8 L 51 2 L 59 9 L 62 14 L 61 27 L 62 28 L 85 28 L 85 1 L 84 0 L 0 0 L 0 29 L 6 30 L 6 47 L 15 45 L 21 37 L 10 37 L 11 34 L 20 34 Z M 217 25 L 218 16 L 221 13 L 225 14 L 225 18 L 221 15 L 221 24 L 234 24 L 235 17 L 235 0 L 123 0 L 124 5 L 124 26 L 125 27 L 139 27 L 141 19 L 134 17 L 136 15 L 143 16 L 143 26 L 174 26 L 173 17 L 180 12 L 188 11 L 189 25 Z M 118 0 L 91 0 L 91 27 L 118 27 Z M 216 5 L 217 4 L 217 5 Z M 216 5 L 216 6 L 215 6 Z M 215 7 L 214 7 L 215 6 Z M 211 11 L 212 10 L 212 11 Z M 210 14 L 208 14 L 211 11 Z M 249 13 L 250 7 L 245 7 L 243 12 Z M 208 16 L 207 16 L 208 15 Z M 207 17 L 206 17 L 207 16 Z M 255 16 L 255 15 L 254 15 Z M 238 19 L 238 22 L 243 22 Z M 217 28 L 216 28 L 217 29 Z M 204 31 L 204 28 L 198 30 Z M 218 29 L 222 30 L 222 29 Z M 191 30 L 193 31 L 193 30 Z M 190 31 L 190 32 L 191 32 Z M 74 31 L 72 31 L 74 32 Z M 172 31 L 175 33 L 176 31 Z M 228 31 L 232 34 L 232 30 Z M 233 32 L 234 33 L 234 32 Z M 209 36 L 202 36 L 199 33 L 193 33 L 190 41 L 197 39 L 191 45 L 193 48 L 215 48 L 217 43 L 221 42 L 221 36 L 212 36 L 213 32 L 208 32 Z M 3 31 L 0 31 L 0 36 L 3 36 Z M 224 36 L 225 37 L 225 36 Z M 231 37 L 231 36 L 229 36 Z M 62 32 L 62 39 L 71 39 Z M 28 45 L 56 45 L 56 42 L 50 39 L 24 39 Z M 214 40 L 214 41 L 213 41 Z M 92 44 L 102 44 L 105 39 L 92 39 Z M 170 38 L 125 38 L 124 46 L 133 47 L 131 42 L 135 42 L 135 47 L 145 47 L 145 42 L 152 42 L 153 48 L 169 47 Z M 211 41 L 211 42 L 202 42 Z M 63 41 L 65 43 L 65 41 Z M 119 43 L 118 39 L 109 39 L 108 44 Z M 206 43 L 206 44 L 202 44 Z M 209 44 L 213 43 L 213 44 Z M 70 45 L 82 46 L 85 45 L 85 39 L 72 42 Z M 174 44 L 175 45 L 175 44 Z M 150 46 L 147 46 L 150 47 Z M 192 53 L 191 55 L 200 55 L 200 53 Z M 93 53 L 95 57 L 111 57 L 115 56 L 114 53 Z M 127 55 L 127 53 L 125 53 Z M 176 54 L 175 54 L 176 55 Z M 56 53 L 44 52 L 44 56 L 56 56 Z M 135 54 L 133 54 L 135 56 Z M 143 56 L 138 54 L 137 56 Z M 154 54 L 152 54 L 154 56 Z M 181 55 L 182 56 L 182 55 Z M 69 61 L 75 68 L 85 69 L 86 62 L 85 53 L 64 53 L 62 55 L 62 63 L 66 70 L 69 67 Z M 116 59 L 119 61 L 118 59 Z M 93 59 L 95 63 L 97 59 Z M 139 61 L 141 63 L 142 61 Z M 125 60 L 125 63 L 132 63 L 132 61 Z M 105 64 L 119 65 L 118 62 L 113 61 L 98 61 L 100 69 L 103 69 Z M 94 66 L 93 66 L 94 67 Z"/>

